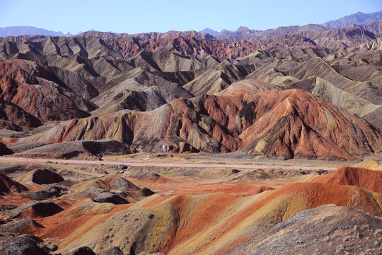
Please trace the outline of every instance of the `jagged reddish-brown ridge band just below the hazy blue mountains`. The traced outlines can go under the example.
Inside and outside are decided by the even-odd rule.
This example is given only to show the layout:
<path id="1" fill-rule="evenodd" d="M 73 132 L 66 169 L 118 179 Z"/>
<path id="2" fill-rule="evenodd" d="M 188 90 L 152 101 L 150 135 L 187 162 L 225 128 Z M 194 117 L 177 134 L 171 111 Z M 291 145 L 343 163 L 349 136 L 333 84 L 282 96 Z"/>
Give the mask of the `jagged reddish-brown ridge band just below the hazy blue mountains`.
<path id="1" fill-rule="evenodd" d="M 126 33 L 114 34 L 107 32 L 88 31 L 72 37 L 46 37 L 43 35 L 23 35 L 20 37 L 0 38 L 0 57 L 7 57 L 16 53 L 28 52 L 40 55 L 56 54 L 62 57 L 71 57 L 79 54 L 81 57 L 93 58 L 108 55 L 112 58 L 125 58 L 144 50 L 157 52 L 168 50 L 184 56 L 193 57 L 228 57 L 239 59 L 250 55 L 256 50 L 285 50 L 299 48 L 328 48 L 355 47 L 362 43 L 378 38 L 377 35 L 363 28 L 327 28 L 328 30 L 309 30 L 280 28 L 272 38 L 253 40 L 251 35 L 256 33 L 248 28 L 240 28 L 236 34 L 222 40 L 197 38 L 207 33 L 193 34 L 192 31 L 179 35 L 176 31 L 167 33 L 144 33 L 129 35 Z M 325 28 L 325 27 L 321 27 Z M 289 30 L 294 33 L 287 33 Z M 267 31 L 260 31 L 266 33 Z M 149 39 L 146 39 L 149 38 Z M 248 39 L 246 39 L 248 38 Z M 100 40 L 101 39 L 101 40 Z M 79 43 L 83 43 L 78 47 Z M 39 47 L 35 47 L 36 43 Z M 59 47 L 59 50 L 57 50 Z"/>

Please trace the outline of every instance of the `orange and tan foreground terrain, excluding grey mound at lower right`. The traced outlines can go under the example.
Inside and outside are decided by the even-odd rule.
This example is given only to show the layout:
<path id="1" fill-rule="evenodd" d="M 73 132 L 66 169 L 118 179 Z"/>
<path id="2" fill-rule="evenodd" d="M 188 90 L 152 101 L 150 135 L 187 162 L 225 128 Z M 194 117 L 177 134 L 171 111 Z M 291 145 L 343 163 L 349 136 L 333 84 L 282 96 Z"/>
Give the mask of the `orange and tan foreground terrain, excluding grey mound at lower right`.
<path id="1" fill-rule="evenodd" d="M 370 174 L 374 174 L 372 179 L 378 183 L 381 172 L 345 167 L 354 165 L 354 162 L 261 161 L 255 162 L 256 166 L 250 159 L 239 161 L 189 154 L 135 154 L 81 163 L 10 159 L 1 157 L 0 160 L 0 172 L 4 174 L 1 183 L 5 185 L 2 192 L 6 194 L 0 198 L 0 231 L 37 235 L 43 241 L 33 241 L 37 242 L 35 245 L 45 251 L 51 249 L 51 253 L 57 247 L 54 252 L 65 254 L 79 246 L 88 246 L 97 254 L 103 254 L 106 249 L 116 246 L 123 254 L 142 251 L 145 254 L 190 254 L 190 249 L 195 254 L 216 254 L 255 238 L 260 229 L 277 226 L 278 222 L 287 220 L 296 212 L 325 203 L 352 206 L 372 215 L 382 215 L 380 205 L 367 198 L 371 194 L 376 201 L 381 201 L 380 194 L 370 193 L 379 191 L 378 185 L 376 190 L 364 186 L 370 182 L 363 184 L 362 181 L 370 180 Z M 125 165 L 127 162 L 131 164 Z M 134 165 L 141 162 L 146 164 Z M 245 168 L 219 167 L 227 162 L 241 162 Z M 370 159 L 361 164 L 378 165 L 373 162 Z M 260 164 L 269 166 L 258 166 Z M 329 179 L 350 180 L 346 177 L 349 174 L 333 170 L 338 167 L 359 174 L 352 183 L 333 186 L 330 183 L 338 182 Z M 36 169 L 47 169 L 44 171 L 56 173 L 62 179 L 48 173 L 37 175 L 42 170 Z M 338 174 L 331 177 L 335 173 Z M 361 177 L 361 173 L 365 176 Z M 42 179 L 42 176 L 50 177 Z M 352 186 L 341 186 L 344 184 Z M 364 187 L 371 191 L 362 189 Z M 312 192 L 320 193 L 319 200 Z M 297 200 L 289 200 L 289 196 L 296 195 L 299 196 Z M 356 203 L 354 199 L 362 202 Z M 311 202 L 303 203 L 303 200 Z M 285 210 L 281 218 L 277 216 L 279 206 Z M 44 215 L 41 210 L 50 213 Z M 175 215 L 172 210 L 176 211 Z M 209 212 L 214 213 L 209 215 Z M 240 217 L 235 216 L 238 213 Z M 264 214 L 273 216 L 267 219 Z M 174 221 L 173 217 L 178 217 L 180 222 Z M 201 220 L 204 220 L 204 227 L 200 228 Z M 76 224 L 79 221 L 81 225 Z M 254 226 L 256 231 L 253 231 Z M 228 231 L 228 235 L 219 234 L 221 231 Z M 96 234 L 100 232 L 103 234 Z M 374 237 L 374 232 L 370 230 L 370 233 Z M 349 232 L 348 238 L 352 234 Z M 207 237 L 215 241 L 205 242 Z M 336 245 L 340 242 L 347 249 L 345 242 L 335 239 Z M 238 246 L 236 249 L 242 248 Z"/>

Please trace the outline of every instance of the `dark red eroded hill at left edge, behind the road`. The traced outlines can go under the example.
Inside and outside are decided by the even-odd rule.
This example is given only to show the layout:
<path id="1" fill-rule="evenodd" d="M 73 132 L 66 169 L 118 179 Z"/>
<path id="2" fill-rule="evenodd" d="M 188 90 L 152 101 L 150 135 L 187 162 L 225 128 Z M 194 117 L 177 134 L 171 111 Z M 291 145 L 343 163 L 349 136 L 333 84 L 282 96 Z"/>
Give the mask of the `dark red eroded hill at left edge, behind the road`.
<path id="1" fill-rule="evenodd" d="M 0 102 L 4 105 L 5 120 L 35 127 L 40 125 L 40 120 L 68 120 L 88 115 L 73 101 L 83 101 L 82 98 L 38 77 L 39 71 L 34 62 L 0 61 Z"/>

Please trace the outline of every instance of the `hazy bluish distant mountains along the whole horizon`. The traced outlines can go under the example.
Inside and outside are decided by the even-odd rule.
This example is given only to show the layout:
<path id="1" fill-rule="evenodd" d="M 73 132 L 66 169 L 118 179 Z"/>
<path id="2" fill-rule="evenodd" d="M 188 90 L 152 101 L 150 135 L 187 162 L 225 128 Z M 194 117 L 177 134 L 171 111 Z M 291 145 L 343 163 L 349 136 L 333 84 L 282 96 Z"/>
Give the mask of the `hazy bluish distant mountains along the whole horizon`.
<path id="1" fill-rule="evenodd" d="M 339 29 L 346 30 L 339 30 Z M 204 39 L 204 40 L 219 40 L 226 45 L 231 44 L 232 42 L 241 41 L 241 40 L 266 40 L 265 47 L 268 49 L 273 49 L 274 46 L 279 48 L 279 46 L 284 45 L 289 41 L 292 45 L 296 46 L 301 44 L 301 38 L 306 38 L 306 42 L 303 42 L 304 47 L 306 47 L 308 40 L 314 40 L 318 47 L 329 47 L 337 48 L 340 47 L 341 40 L 344 38 L 350 37 L 349 42 L 346 42 L 345 47 L 353 47 L 359 45 L 359 42 L 363 42 L 365 37 L 374 40 L 374 35 L 367 33 L 367 35 L 362 35 L 364 38 L 359 40 L 359 38 L 354 38 L 359 36 L 360 30 L 355 28 L 361 28 L 366 32 L 373 33 L 374 35 L 382 35 L 382 11 L 376 13 L 353 13 L 352 15 L 345 16 L 343 18 L 337 19 L 335 21 L 328 21 L 322 25 L 318 24 L 307 24 L 305 26 L 282 26 L 274 29 L 267 30 L 253 30 L 245 26 L 239 27 L 237 30 L 226 30 L 223 29 L 220 32 L 213 30 L 211 28 L 204 28 L 203 30 L 197 32 L 195 30 L 190 31 L 174 31 L 170 30 L 166 33 L 150 32 L 150 33 L 137 33 L 137 34 L 128 34 L 128 33 L 112 33 L 110 32 L 100 32 L 97 30 L 89 30 L 83 33 L 78 33 L 74 36 L 76 37 L 96 37 L 103 40 L 108 40 L 111 38 L 126 39 L 127 42 L 132 42 L 132 38 L 137 38 L 138 40 L 151 40 L 151 39 L 168 39 L 180 36 L 183 38 L 195 38 L 195 39 Z M 356 32 L 354 35 L 348 34 Z M 6 27 L 0 28 L 0 37 L 7 36 L 72 36 L 70 33 L 55 32 L 50 30 L 45 30 L 42 28 L 35 28 L 31 26 L 18 26 L 18 27 Z M 286 35 L 286 36 L 284 36 Z M 290 35 L 290 36 L 289 36 Z M 328 38 L 327 35 L 335 35 L 335 40 L 337 42 L 330 42 L 332 39 Z M 281 40 L 281 45 L 272 45 L 268 40 L 276 38 L 275 41 Z M 25 39 L 25 38 L 24 38 Z M 31 39 L 31 38 L 29 38 Z M 295 41 L 296 39 L 296 41 Z M 320 42 L 317 40 L 320 39 Z M 23 40 L 22 38 L 15 40 Z M 324 42 L 325 41 L 325 42 Z M 297 43 L 296 43 L 297 42 Z M 161 44 L 161 42 L 159 43 Z M 329 45 L 330 44 L 330 45 Z M 301 46 L 301 45 L 300 45 Z"/>

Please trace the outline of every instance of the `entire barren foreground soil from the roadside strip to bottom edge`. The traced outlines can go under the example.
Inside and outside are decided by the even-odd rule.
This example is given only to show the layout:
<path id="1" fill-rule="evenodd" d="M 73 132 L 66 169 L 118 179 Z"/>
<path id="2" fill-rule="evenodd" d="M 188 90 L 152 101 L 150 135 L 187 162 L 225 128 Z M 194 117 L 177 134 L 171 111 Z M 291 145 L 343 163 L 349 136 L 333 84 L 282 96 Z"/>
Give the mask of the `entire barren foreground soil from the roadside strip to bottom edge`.
<path id="1" fill-rule="evenodd" d="M 166 164 L 172 161 L 192 163 L 197 159 L 197 155 L 137 154 L 115 157 L 113 161 Z M 206 156 L 201 160 L 214 164 L 236 162 L 237 159 Z M 244 162 L 250 164 L 251 161 Z M 298 234 L 302 240 L 299 246 L 283 251 L 284 254 L 293 254 L 296 249 L 316 253 L 328 250 L 337 254 L 380 249 L 378 231 L 382 230 L 378 224 L 371 224 L 373 220 L 381 221 L 382 216 L 382 198 L 378 193 L 381 191 L 377 185 L 381 183 L 379 171 L 352 168 L 348 162 L 261 163 L 274 167 L 219 169 L 91 162 L 0 163 L 3 174 L 0 177 L 0 233 L 6 236 L 0 237 L 0 242 L 7 244 L 0 252 L 6 252 L 8 246 L 23 249 L 18 242 L 25 242 L 30 249 L 40 249 L 41 254 L 69 254 L 81 246 L 87 246 L 89 252 L 92 250 L 96 254 L 104 254 L 108 249 L 120 250 L 122 254 L 243 254 L 255 251 L 262 254 L 262 250 L 272 246 L 272 252 L 277 254 L 280 241 L 273 233 L 289 227 L 291 230 L 285 230 L 286 233 L 292 233 L 292 228 L 306 233 Z M 282 163 L 295 169 L 277 167 Z M 362 164 L 371 163 L 368 160 Z M 345 167 L 336 171 L 302 170 L 306 164 Z M 378 162 L 373 163 L 376 164 Z M 365 183 L 364 178 L 369 181 Z M 306 210 L 309 208 L 315 209 Z M 303 220 L 309 217 L 312 219 Z M 330 230 L 311 224 L 318 217 L 329 217 L 330 229 L 337 229 L 333 237 L 325 234 Z M 353 224 L 350 220 L 357 222 Z M 343 222 L 348 222 L 349 227 L 340 227 Z M 315 227 L 320 232 L 315 231 Z M 13 234 L 19 239 L 11 239 Z M 272 239 L 267 239 L 262 246 L 257 245 L 255 240 L 265 236 Z M 283 242 L 292 245 L 295 236 L 285 234 Z M 304 245 L 308 237 L 316 248 Z M 340 244 L 343 247 L 338 247 Z"/>

